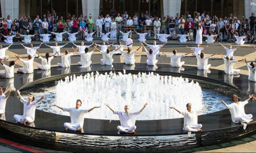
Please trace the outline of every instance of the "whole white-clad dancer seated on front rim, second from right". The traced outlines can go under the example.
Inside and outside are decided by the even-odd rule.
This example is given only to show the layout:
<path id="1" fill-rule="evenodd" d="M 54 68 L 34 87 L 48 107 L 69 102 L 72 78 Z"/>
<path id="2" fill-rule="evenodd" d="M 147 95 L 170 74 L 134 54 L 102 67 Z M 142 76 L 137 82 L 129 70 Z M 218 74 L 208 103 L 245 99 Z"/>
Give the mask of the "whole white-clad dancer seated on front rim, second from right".
<path id="1" fill-rule="evenodd" d="M 187 111 L 184 112 L 180 112 L 179 110 L 177 110 L 174 107 L 170 107 L 171 109 L 175 109 L 175 111 L 177 111 L 178 113 L 182 114 L 184 116 L 184 125 L 183 125 L 183 130 L 188 132 L 188 135 L 190 136 L 191 132 L 196 132 L 196 131 L 202 131 L 202 126 L 201 124 L 197 123 L 197 116 L 199 116 L 199 114 L 201 114 L 201 112 L 203 112 L 205 109 L 208 108 L 208 105 L 205 106 L 204 108 L 200 109 L 200 110 L 193 110 L 191 109 L 191 103 L 187 104 Z"/>

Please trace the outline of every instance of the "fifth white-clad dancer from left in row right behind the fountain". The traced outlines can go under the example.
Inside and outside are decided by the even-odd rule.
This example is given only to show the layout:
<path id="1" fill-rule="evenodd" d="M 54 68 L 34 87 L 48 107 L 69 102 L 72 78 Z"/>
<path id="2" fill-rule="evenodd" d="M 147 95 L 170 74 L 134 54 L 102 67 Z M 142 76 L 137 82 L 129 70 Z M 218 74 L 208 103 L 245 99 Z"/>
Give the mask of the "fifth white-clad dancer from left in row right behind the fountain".
<path id="1" fill-rule="evenodd" d="M 94 46 L 94 49 L 89 52 L 89 49 L 88 48 L 85 48 L 84 49 L 84 53 L 80 53 L 80 52 L 76 52 L 75 48 L 72 47 L 72 49 L 74 50 L 74 52 L 76 52 L 77 54 L 80 55 L 80 62 L 78 62 L 77 64 L 80 65 L 81 67 L 88 67 L 90 66 L 90 64 L 92 63 L 92 60 L 91 60 L 91 57 L 92 57 L 92 54 L 95 50 L 97 46 Z"/>

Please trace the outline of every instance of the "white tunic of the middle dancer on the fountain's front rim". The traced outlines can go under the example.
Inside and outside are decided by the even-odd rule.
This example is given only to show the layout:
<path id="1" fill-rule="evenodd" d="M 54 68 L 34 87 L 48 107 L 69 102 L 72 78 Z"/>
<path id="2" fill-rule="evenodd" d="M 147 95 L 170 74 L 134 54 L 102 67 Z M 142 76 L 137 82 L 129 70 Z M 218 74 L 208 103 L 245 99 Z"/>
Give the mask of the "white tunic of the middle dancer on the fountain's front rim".
<path id="1" fill-rule="evenodd" d="M 115 111 L 113 114 L 118 114 L 121 126 L 123 128 L 130 128 L 131 126 L 135 125 L 136 117 L 141 112 L 134 112 L 127 115 L 125 112 L 117 112 Z"/>

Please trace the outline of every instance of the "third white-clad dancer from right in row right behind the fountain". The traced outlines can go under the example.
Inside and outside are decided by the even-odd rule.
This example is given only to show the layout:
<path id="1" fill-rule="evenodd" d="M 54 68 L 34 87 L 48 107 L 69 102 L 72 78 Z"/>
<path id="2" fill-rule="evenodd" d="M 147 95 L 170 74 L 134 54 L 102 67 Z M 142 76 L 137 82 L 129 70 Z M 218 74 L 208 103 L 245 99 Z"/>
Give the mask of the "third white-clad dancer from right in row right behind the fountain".
<path id="1" fill-rule="evenodd" d="M 193 51 L 195 53 L 195 51 Z M 204 57 L 204 53 L 201 53 L 200 56 L 196 55 L 196 58 L 197 58 L 197 69 L 199 70 L 208 70 L 210 69 L 210 64 L 208 64 L 208 59 L 209 58 L 212 58 L 214 55 L 216 54 L 213 54 L 211 56 L 207 56 L 207 57 Z"/>

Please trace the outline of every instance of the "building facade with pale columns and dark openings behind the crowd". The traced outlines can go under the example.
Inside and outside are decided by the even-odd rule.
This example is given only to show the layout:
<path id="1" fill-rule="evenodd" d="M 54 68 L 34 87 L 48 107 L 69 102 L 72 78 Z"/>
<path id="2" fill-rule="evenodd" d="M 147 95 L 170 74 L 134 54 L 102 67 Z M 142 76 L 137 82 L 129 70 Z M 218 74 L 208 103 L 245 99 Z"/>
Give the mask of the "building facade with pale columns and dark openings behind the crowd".
<path id="1" fill-rule="evenodd" d="M 47 14 L 53 8 L 64 19 L 68 14 L 89 16 L 94 20 L 100 14 L 110 14 L 125 11 L 129 15 L 148 11 L 155 16 L 176 16 L 177 13 L 193 15 L 196 12 L 209 12 L 210 15 L 229 16 L 234 14 L 240 18 L 247 17 L 256 11 L 256 0 L 1 0 L 2 18 L 7 15 L 11 19 L 19 19 L 24 15 L 35 18 L 36 15 Z M 113 11 L 113 8 L 115 12 Z"/>

